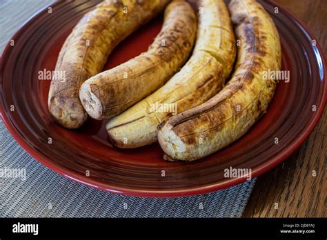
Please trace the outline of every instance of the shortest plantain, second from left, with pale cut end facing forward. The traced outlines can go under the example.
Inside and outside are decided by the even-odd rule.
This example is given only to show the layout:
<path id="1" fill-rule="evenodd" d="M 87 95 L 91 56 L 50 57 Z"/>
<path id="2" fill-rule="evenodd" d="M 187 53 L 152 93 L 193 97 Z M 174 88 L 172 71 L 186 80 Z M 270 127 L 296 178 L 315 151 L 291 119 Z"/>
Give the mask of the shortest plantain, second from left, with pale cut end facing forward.
<path id="1" fill-rule="evenodd" d="M 113 117 L 160 88 L 188 59 L 196 32 L 197 17 L 190 4 L 172 1 L 147 52 L 83 83 L 79 97 L 89 116 Z"/>

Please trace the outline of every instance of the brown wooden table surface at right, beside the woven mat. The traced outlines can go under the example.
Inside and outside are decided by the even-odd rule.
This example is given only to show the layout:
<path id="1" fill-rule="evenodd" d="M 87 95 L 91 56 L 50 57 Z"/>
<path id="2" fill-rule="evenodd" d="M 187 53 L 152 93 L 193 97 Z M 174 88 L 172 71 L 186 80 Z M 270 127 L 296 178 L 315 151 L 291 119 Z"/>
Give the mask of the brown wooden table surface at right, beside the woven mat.
<path id="1" fill-rule="evenodd" d="M 275 2 L 308 26 L 327 56 L 327 1 Z M 258 177 L 244 217 L 326 217 L 326 119 L 325 109 L 303 146 L 280 166 Z"/>

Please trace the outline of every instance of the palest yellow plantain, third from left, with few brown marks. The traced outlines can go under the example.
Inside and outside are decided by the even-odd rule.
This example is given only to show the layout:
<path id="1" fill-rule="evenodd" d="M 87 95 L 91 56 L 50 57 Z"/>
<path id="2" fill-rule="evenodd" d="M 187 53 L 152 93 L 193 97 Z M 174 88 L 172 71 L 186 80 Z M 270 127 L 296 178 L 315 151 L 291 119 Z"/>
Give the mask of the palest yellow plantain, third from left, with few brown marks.
<path id="1" fill-rule="evenodd" d="M 157 141 L 162 121 L 204 103 L 224 86 L 236 54 L 227 7 L 223 0 L 203 0 L 197 8 L 197 42 L 188 63 L 159 90 L 108 121 L 108 134 L 119 148 Z"/>

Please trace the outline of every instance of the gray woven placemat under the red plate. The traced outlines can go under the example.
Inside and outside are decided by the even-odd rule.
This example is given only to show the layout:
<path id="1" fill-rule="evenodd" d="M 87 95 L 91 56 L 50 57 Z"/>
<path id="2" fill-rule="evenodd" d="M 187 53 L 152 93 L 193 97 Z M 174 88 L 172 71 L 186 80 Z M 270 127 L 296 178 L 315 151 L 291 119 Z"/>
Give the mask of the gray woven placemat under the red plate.
<path id="1" fill-rule="evenodd" d="M 23 21 L 49 1 L 0 1 L 2 52 Z M 95 190 L 52 172 L 30 157 L 0 120 L 0 217 L 241 217 L 255 179 L 210 194 L 172 199 L 126 197 Z"/>

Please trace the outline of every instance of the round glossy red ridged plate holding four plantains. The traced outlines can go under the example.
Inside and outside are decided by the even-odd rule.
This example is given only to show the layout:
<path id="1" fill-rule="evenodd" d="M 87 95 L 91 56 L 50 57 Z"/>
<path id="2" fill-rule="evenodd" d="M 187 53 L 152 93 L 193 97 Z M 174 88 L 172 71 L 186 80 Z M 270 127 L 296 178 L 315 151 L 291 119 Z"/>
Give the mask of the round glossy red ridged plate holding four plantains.
<path id="1" fill-rule="evenodd" d="M 14 139 L 32 157 L 72 180 L 94 188 L 144 197 L 177 197 L 211 192 L 245 181 L 226 179 L 224 169 L 250 168 L 252 177 L 292 154 L 315 128 L 326 105 L 326 61 L 311 34 L 286 10 L 263 2 L 281 37 L 283 69 L 290 82 L 278 84 L 268 113 L 239 141 L 200 161 L 170 163 L 157 143 L 137 150 L 112 146 L 106 121 L 88 120 L 79 130 L 54 123 L 47 108 L 50 81 L 39 70 L 54 70 L 59 50 L 73 26 L 95 1 L 54 3 L 14 35 L 1 57 L 1 117 Z M 146 50 L 159 32 L 161 18 L 135 32 L 113 52 L 106 69 Z M 10 111 L 14 106 L 14 111 Z M 316 110 L 313 111 L 313 106 Z M 52 143 L 48 144 L 48 138 Z M 275 144 L 275 137 L 279 144 Z M 161 171 L 166 176 L 161 176 Z M 90 177 L 86 177 L 90 171 Z"/>

